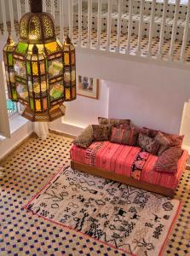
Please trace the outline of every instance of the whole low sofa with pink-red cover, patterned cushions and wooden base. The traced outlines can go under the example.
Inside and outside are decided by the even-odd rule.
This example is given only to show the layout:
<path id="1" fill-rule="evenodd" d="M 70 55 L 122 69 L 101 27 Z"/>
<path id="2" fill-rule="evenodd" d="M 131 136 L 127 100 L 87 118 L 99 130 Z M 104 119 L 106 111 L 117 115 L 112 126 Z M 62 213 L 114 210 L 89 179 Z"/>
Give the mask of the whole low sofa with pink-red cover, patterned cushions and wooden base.
<path id="1" fill-rule="evenodd" d="M 99 125 L 89 125 L 72 144 L 72 168 L 172 198 L 188 158 L 183 137 L 139 129 L 126 120 L 99 118 Z"/>

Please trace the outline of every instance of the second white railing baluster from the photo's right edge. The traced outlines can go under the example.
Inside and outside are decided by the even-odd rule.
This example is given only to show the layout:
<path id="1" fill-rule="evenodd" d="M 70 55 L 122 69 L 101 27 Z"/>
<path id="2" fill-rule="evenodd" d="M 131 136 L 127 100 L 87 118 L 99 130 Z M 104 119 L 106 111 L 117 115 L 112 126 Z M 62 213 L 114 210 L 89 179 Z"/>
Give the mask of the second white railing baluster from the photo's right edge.
<path id="1" fill-rule="evenodd" d="M 180 1 L 176 0 L 176 7 L 175 7 L 175 14 L 174 14 L 174 21 L 172 26 L 172 33 L 171 33 L 171 42 L 170 42 L 170 53 L 169 53 L 169 60 L 172 61 L 173 58 L 173 52 L 174 52 L 174 44 L 176 40 L 176 28 L 177 28 L 177 19 L 179 14 L 179 7 L 180 7 Z"/>

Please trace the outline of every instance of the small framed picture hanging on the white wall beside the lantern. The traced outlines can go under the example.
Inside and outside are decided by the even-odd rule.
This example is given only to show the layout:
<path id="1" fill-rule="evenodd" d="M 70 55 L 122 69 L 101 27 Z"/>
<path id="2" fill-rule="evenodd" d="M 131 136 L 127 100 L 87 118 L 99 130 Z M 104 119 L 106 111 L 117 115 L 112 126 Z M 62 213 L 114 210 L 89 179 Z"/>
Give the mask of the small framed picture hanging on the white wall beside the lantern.
<path id="1" fill-rule="evenodd" d="M 78 76 L 78 95 L 98 99 L 99 80 Z"/>

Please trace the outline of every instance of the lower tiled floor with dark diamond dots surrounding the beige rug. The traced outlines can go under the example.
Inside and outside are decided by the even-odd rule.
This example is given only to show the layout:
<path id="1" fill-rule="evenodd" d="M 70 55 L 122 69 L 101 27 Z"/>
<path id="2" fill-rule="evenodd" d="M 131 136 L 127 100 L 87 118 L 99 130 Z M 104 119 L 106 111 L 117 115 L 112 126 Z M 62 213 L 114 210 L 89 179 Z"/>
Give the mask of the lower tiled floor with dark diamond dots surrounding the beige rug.
<path id="1" fill-rule="evenodd" d="M 32 216 L 23 205 L 69 164 L 72 139 L 49 134 L 46 140 L 29 138 L 1 163 L 0 177 L 0 255 L 125 255 L 85 238 L 74 230 Z M 183 201 L 181 214 L 170 235 L 164 255 L 190 255 L 190 171 L 186 171 L 176 191 Z M 156 255 L 153 255 L 156 256 Z"/>

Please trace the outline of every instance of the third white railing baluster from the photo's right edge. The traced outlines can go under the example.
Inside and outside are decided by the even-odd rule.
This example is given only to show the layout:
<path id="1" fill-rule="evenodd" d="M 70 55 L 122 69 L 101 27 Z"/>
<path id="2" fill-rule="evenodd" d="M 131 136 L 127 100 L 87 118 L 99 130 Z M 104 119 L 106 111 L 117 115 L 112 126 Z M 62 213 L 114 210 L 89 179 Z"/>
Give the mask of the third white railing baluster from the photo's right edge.
<path id="1" fill-rule="evenodd" d="M 168 6 L 168 0 L 164 0 L 162 26 L 161 26 L 160 36 L 159 36 L 159 46 L 158 46 L 158 55 L 157 55 L 158 59 L 162 59 L 162 54 L 163 54 L 164 30 L 165 30 L 167 6 Z"/>

